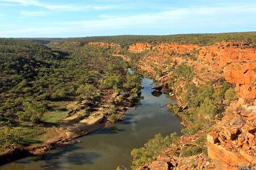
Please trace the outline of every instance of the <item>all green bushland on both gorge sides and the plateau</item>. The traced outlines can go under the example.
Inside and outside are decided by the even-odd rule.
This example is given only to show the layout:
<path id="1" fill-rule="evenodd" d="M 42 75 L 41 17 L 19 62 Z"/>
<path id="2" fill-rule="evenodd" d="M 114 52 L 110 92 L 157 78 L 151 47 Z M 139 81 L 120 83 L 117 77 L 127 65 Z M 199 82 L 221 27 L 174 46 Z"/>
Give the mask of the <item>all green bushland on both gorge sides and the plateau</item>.
<path id="1" fill-rule="evenodd" d="M 52 41 L 57 44 L 50 43 Z M 79 43 L 64 43 L 72 41 Z M 61 120 L 71 116 L 69 111 L 72 107 L 66 106 L 73 101 L 90 108 L 114 94 L 113 105 L 109 108 L 111 113 L 106 116 L 115 122 L 119 119 L 117 114 L 113 114 L 117 112 L 116 106 L 137 100 L 141 88 L 140 76 L 127 72 L 128 63 L 112 56 L 114 48 L 88 45 L 91 41 L 118 43 L 121 45 L 118 54 L 129 56 L 131 63 L 137 63 L 144 53 L 134 54 L 127 50 L 135 42 L 150 42 L 152 45 L 177 42 L 203 46 L 220 41 L 240 41 L 247 44 L 245 48 L 251 48 L 251 44 L 256 43 L 256 32 L 0 39 L 0 149 L 16 143 L 42 141 L 38 138 L 38 134 L 46 133 L 42 127 L 48 124 L 58 126 Z M 182 54 L 180 57 L 188 57 L 193 61 L 197 59 L 195 54 Z M 170 91 L 176 92 L 181 104 L 187 106 L 187 109 L 172 106 L 174 112 L 184 118 L 187 126 L 182 131 L 185 135 L 208 130 L 214 120 L 222 117 L 225 105 L 237 99 L 234 87 L 223 78 L 196 85 L 191 81 L 196 75 L 187 63 L 168 68 L 174 73 L 168 82 L 172 88 Z M 163 76 L 161 68 L 153 69 L 157 76 Z M 181 82 L 185 82 L 184 86 L 180 86 Z M 84 115 L 80 115 L 81 118 L 93 112 L 90 109 L 85 111 Z M 176 140 L 175 135 L 166 138 L 156 135 L 144 147 L 133 150 L 133 168 L 151 162 L 154 156 Z M 184 147 L 174 154 L 190 156 L 202 152 L 201 144 L 205 142 L 205 136 L 199 137 L 196 142 L 196 146 Z"/>

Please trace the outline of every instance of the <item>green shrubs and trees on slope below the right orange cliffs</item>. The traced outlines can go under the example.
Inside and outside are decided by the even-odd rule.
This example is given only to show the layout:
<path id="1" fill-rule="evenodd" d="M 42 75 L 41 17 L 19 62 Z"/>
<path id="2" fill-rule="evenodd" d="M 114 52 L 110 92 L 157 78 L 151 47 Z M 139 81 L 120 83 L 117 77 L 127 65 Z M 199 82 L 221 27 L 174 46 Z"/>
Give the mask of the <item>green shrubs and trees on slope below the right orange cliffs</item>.
<path id="1" fill-rule="evenodd" d="M 182 110 L 177 105 L 172 106 L 187 125 L 182 130 L 185 135 L 207 130 L 216 118 L 223 116 L 225 105 L 237 99 L 233 85 L 225 82 L 224 78 L 196 85 L 191 81 L 196 76 L 192 70 L 182 63 L 172 69 L 174 74 L 169 78 L 170 87 L 180 96 L 180 103 L 188 108 Z M 185 82 L 184 86 L 180 86 L 180 82 Z"/>

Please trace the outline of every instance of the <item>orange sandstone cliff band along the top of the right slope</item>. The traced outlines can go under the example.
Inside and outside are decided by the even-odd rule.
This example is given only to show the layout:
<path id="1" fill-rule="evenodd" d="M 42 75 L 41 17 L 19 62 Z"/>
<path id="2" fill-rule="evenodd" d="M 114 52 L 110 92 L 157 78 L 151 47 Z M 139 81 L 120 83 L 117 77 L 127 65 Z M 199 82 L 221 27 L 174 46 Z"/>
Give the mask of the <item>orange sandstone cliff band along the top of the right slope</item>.
<path id="1" fill-rule="evenodd" d="M 167 66 L 186 62 L 194 68 L 197 74 L 198 78 L 193 80 L 196 84 L 225 76 L 228 82 L 237 84 L 238 97 L 254 99 L 256 86 L 253 82 L 256 79 L 256 74 L 253 69 L 256 67 L 256 49 L 247 47 L 246 44 L 234 42 L 220 42 L 209 46 L 161 43 L 152 47 L 153 50 L 141 59 L 140 66 L 141 70 L 153 76 L 156 76 L 152 74 L 154 67 L 162 67 L 166 76 L 161 79 L 167 81 L 171 75 Z M 134 53 L 149 49 L 150 44 L 148 43 L 135 43 L 129 48 Z M 195 61 L 186 56 L 187 54 L 192 54 L 198 59 Z"/>

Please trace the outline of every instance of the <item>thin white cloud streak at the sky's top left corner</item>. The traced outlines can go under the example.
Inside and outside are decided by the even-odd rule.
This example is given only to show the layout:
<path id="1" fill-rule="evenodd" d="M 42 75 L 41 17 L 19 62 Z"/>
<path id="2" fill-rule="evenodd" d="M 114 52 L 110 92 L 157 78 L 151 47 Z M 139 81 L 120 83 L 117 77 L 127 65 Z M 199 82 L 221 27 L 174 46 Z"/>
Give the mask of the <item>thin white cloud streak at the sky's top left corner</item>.
<path id="1" fill-rule="evenodd" d="M 85 5 L 49 5 L 46 3 L 41 3 L 36 0 L 0 0 L 2 2 L 13 2 L 19 3 L 20 5 L 24 6 L 38 6 L 47 8 L 48 10 L 55 10 L 55 11 L 83 11 L 83 10 L 105 10 L 109 8 L 113 8 L 115 6 L 85 6 Z"/>

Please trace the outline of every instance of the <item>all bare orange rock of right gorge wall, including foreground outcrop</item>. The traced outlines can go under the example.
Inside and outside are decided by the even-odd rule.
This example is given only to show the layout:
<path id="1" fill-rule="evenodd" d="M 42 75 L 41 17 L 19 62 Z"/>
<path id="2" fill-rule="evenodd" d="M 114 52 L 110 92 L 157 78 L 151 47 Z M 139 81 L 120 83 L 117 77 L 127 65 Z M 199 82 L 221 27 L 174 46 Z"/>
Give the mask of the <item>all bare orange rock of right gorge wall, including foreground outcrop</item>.
<path id="1" fill-rule="evenodd" d="M 106 44 L 101 44 L 106 45 Z M 214 45 L 180 45 L 176 43 L 135 43 L 129 52 L 143 53 L 136 64 L 144 75 L 154 76 L 162 84 L 168 84 L 173 72 L 170 66 L 186 63 L 196 74 L 192 82 L 199 85 L 210 80 L 224 79 L 234 83 L 238 101 L 225 108 L 225 116 L 213 126 L 207 136 L 208 156 L 214 160 L 217 169 L 237 169 L 256 164 L 256 48 L 240 42 L 219 42 Z M 121 56 L 127 61 L 129 56 Z M 158 74 L 158 71 L 162 74 Z M 180 82 L 180 86 L 183 86 Z M 177 96 L 179 100 L 179 96 Z M 181 148 L 195 141 L 198 134 L 181 137 Z M 187 141 L 187 142 L 186 142 Z M 140 169 L 189 169 L 185 165 L 197 160 L 197 167 L 213 168 L 215 165 L 202 155 L 195 158 L 172 158 L 168 152 L 150 165 Z M 179 164 L 179 165 L 178 165 Z"/>

